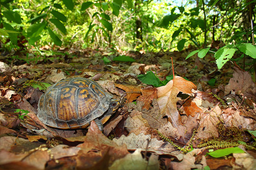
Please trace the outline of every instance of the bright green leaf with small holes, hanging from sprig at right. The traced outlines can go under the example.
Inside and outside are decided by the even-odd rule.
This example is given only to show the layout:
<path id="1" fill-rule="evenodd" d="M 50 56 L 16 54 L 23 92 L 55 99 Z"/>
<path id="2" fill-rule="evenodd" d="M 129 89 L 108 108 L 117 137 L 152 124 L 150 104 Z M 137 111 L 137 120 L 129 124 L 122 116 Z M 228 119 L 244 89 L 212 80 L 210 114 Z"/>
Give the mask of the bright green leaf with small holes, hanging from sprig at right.
<path id="1" fill-rule="evenodd" d="M 226 62 L 229 61 L 230 58 L 233 57 L 234 53 L 236 52 L 236 49 L 229 49 L 229 48 L 222 48 L 221 50 L 219 49 L 215 54 L 214 57 L 216 58 L 216 63 L 218 66 L 218 69 L 221 69 L 222 66 Z"/>

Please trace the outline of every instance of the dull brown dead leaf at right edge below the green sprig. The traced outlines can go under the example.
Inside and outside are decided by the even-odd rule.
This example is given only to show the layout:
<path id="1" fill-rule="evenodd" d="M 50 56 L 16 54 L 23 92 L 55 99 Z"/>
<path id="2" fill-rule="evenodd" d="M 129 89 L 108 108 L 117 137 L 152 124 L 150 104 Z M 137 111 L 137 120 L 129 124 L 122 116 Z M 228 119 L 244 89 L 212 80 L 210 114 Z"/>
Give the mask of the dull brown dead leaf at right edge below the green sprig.
<path id="1" fill-rule="evenodd" d="M 229 80 L 229 84 L 225 87 L 225 95 L 232 90 L 256 101 L 256 86 L 251 79 L 251 75 L 238 66 L 234 66 L 233 78 Z"/>

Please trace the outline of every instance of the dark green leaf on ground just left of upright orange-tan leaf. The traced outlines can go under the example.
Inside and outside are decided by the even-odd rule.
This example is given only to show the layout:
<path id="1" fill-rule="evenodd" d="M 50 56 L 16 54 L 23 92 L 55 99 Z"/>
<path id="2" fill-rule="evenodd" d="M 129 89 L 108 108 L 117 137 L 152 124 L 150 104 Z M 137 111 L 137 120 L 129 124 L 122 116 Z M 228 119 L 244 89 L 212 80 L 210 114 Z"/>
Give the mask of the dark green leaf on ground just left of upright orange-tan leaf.
<path id="1" fill-rule="evenodd" d="M 138 75 L 138 79 L 145 84 L 150 84 L 155 87 L 160 86 L 160 80 L 152 71 L 147 71 L 147 74 Z"/>

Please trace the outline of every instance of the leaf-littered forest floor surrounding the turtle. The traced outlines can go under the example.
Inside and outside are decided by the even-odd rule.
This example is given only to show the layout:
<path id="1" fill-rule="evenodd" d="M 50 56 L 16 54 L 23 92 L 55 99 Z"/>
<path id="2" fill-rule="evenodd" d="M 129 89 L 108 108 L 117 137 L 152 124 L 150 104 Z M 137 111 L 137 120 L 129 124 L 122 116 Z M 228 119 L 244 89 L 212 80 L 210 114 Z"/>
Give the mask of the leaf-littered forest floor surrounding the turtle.
<path id="1" fill-rule="evenodd" d="M 2 52 L 0 169 L 254 169 L 250 66 L 218 70 L 211 55 L 185 60 L 191 51 Z M 94 121 L 61 130 L 36 117 L 46 88 L 75 77 L 125 99 L 103 133 Z"/>

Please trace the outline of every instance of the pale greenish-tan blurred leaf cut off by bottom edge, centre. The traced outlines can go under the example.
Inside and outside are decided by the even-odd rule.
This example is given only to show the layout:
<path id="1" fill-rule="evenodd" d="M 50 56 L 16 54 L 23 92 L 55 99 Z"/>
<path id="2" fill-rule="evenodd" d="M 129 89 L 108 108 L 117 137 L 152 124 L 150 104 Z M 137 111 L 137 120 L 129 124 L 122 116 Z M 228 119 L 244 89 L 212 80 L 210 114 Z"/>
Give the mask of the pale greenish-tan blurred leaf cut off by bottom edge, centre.
<path id="1" fill-rule="evenodd" d="M 150 155 L 148 161 L 142 158 L 141 150 L 137 149 L 133 154 L 128 154 L 125 158 L 115 160 L 109 169 L 159 169 L 158 155 Z"/>

